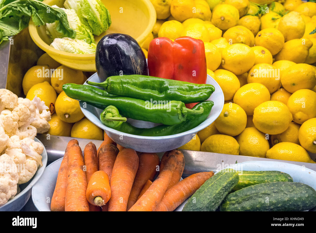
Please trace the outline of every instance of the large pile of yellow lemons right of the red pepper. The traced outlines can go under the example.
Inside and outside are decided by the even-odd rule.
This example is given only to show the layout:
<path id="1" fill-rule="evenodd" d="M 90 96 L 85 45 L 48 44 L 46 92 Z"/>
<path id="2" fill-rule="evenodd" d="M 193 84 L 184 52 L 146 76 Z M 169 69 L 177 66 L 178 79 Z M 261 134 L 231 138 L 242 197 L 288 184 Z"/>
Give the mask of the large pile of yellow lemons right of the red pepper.
<path id="1" fill-rule="evenodd" d="M 316 3 L 301 0 L 151 0 L 155 37 L 204 42 L 221 115 L 183 149 L 314 162 Z"/>

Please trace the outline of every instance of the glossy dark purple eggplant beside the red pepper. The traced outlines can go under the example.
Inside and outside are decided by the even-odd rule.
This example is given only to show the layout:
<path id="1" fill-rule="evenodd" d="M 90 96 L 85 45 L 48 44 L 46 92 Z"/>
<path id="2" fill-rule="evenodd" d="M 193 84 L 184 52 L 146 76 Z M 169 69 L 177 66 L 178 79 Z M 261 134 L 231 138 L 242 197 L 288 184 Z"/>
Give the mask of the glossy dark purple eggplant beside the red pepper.
<path id="1" fill-rule="evenodd" d="M 95 66 L 102 80 L 113 75 L 148 75 L 145 54 L 137 41 L 125 34 L 102 37 L 95 52 Z"/>

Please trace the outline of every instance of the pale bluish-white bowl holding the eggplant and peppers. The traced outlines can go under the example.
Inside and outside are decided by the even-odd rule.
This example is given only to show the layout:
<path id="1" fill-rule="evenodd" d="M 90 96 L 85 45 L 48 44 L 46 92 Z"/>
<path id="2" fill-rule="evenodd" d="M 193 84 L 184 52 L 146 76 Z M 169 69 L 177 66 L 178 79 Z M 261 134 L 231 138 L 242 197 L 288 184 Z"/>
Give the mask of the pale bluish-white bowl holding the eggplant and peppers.
<path id="1" fill-rule="evenodd" d="M 92 82 L 102 82 L 97 73 L 93 74 L 89 79 Z M 211 84 L 215 87 L 215 91 L 212 93 L 208 100 L 212 100 L 214 102 L 214 106 L 210 112 L 208 118 L 197 127 L 185 131 L 183 133 L 168 135 L 168 136 L 160 136 L 160 137 L 149 137 L 149 136 L 139 136 L 132 135 L 120 132 L 116 129 L 112 129 L 106 127 L 100 121 L 100 113 L 103 111 L 101 109 L 95 108 L 89 104 L 86 105 L 86 108 L 83 108 L 83 102 L 80 101 L 80 108 L 82 113 L 95 125 L 104 129 L 106 134 L 116 143 L 124 146 L 126 148 L 132 148 L 136 151 L 140 152 L 151 152 L 151 153 L 159 153 L 168 150 L 173 150 L 178 148 L 185 143 L 189 142 L 192 137 L 200 130 L 206 128 L 211 123 L 213 123 L 216 118 L 221 114 L 223 106 L 224 106 L 224 94 L 221 87 L 218 83 L 210 76 L 207 75 L 207 84 Z M 88 84 L 85 84 L 88 85 Z M 100 88 L 101 89 L 101 88 Z M 139 127 L 139 128 L 151 128 L 158 124 L 146 122 L 146 121 L 138 121 L 133 119 L 128 119 L 128 123 Z"/>

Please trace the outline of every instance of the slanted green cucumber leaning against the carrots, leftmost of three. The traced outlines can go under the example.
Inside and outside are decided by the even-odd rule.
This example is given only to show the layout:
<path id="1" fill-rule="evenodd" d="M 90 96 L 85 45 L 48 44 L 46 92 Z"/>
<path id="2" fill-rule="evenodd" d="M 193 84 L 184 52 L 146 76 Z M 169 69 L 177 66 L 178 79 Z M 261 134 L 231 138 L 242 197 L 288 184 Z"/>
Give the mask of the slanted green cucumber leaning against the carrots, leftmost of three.
<path id="1" fill-rule="evenodd" d="M 238 180 L 238 173 L 233 169 L 216 173 L 189 198 L 182 211 L 216 211 Z"/>

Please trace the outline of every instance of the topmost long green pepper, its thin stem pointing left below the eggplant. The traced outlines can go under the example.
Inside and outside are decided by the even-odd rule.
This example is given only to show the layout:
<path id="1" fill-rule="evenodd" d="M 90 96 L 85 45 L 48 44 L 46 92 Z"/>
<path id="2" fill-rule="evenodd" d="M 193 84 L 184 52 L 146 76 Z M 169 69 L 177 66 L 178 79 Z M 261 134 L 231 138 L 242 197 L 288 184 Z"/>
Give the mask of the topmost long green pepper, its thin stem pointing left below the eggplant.
<path id="1" fill-rule="evenodd" d="M 108 77 L 103 83 L 87 81 L 89 85 L 103 87 L 111 94 L 142 100 L 178 100 L 185 104 L 207 100 L 215 91 L 213 85 L 188 83 L 145 75 Z"/>

